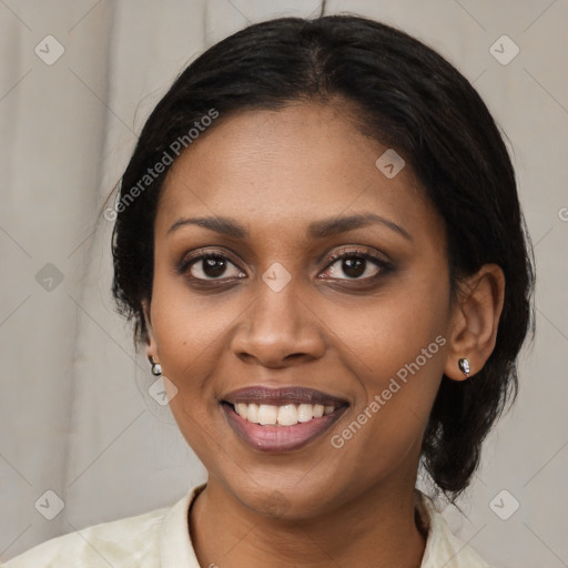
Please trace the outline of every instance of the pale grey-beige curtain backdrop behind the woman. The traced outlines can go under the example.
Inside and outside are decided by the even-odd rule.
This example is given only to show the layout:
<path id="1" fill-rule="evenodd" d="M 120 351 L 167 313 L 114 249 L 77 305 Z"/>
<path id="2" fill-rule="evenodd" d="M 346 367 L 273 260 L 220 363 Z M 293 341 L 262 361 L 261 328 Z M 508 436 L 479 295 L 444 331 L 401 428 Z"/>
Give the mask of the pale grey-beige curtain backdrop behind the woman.
<path id="1" fill-rule="evenodd" d="M 393 23 L 437 49 L 507 133 L 536 245 L 537 338 L 515 409 L 459 501 L 466 516 L 444 515 L 495 566 L 568 566 L 568 4 L 324 8 Z M 111 223 L 100 211 L 145 118 L 190 60 L 247 22 L 321 9 L 302 0 L 0 0 L 0 561 L 171 505 L 205 479 L 169 408 L 149 394 L 148 363 L 114 312 Z"/>

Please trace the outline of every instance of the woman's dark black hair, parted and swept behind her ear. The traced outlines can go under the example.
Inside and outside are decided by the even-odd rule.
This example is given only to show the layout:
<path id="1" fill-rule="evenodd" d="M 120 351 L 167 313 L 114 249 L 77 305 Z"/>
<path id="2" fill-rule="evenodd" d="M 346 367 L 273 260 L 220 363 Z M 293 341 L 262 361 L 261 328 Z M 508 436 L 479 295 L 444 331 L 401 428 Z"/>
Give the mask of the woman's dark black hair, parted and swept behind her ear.
<path id="1" fill-rule="evenodd" d="M 213 116 L 212 110 L 219 123 L 240 110 L 336 100 L 354 110 L 364 133 L 404 158 L 444 219 L 453 294 L 460 278 L 486 263 L 505 274 L 495 348 L 469 379 L 444 375 L 423 440 L 424 467 L 455 498 L 479 464 L 481 442 L 517 394 L 517 356 L 534 328 L 534 261 L 494 119 L 471 84 L 420 41 L 355 16 L 278 18 L 197 57 L 151 113 L 122 176 L 112 291 L 119 311 L 134 321 L 135 339 L 146 339 L 142 301 L 152 296 L 153 225 L 170 168 L 156 174 L 154 166 L 176 155 L 175 141 L 175 149 L 191 143 L 195 122 Z M 152 179 L 144 178 L 149 170 Z"/>

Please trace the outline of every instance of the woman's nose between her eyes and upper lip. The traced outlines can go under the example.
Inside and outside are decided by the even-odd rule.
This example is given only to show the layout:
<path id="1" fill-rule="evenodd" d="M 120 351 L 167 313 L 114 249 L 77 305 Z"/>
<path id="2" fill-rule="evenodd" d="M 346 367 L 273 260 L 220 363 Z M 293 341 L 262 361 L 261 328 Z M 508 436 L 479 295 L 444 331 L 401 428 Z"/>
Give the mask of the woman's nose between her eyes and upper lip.
<path id="1" fill-rule="evenodd" d="M 275 292 L 258 280 L 257 288 L 233 335 L 233 353 L 245 363 L 270 368 L 321 358 L 325 326 L 293 283 Z"/>

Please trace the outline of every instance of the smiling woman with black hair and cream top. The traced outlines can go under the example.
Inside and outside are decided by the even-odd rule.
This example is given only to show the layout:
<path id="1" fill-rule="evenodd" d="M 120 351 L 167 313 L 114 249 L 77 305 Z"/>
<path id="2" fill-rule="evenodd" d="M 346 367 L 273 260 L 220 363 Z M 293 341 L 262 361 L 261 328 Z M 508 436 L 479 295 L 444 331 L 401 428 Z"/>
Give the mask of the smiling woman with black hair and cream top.
<path id="1" fill-rule="evenodd" d="M 209 478 L 7 567 L 487 566 L 415 488 L 468 486 L 530 327 L 463 75 L 363 18 L 251 26 L 160 101 L 114 212 L 114 296 Z"/>

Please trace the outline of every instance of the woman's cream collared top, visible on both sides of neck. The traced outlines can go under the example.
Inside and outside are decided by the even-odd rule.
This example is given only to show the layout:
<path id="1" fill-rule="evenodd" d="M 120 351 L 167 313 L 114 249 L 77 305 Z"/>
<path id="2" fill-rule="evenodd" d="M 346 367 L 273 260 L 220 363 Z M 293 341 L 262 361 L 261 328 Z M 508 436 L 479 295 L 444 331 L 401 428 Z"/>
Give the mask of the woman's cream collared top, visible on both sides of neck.
<path id="1" fill-rule="evenodd" d="M 189 509 L 204 487 L 192 487 L 172 507 L 52 538 L 0 568 L 209 568 L 200 567 L 187 526 Z M 450 532 L 426 495 L 416 496 L 418 518 L 428 531 L 420 568 L 489 568 Z"/>

